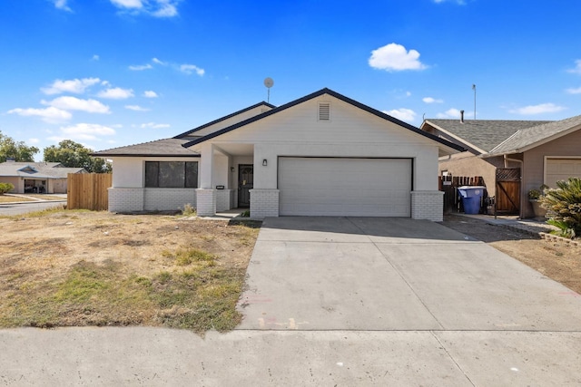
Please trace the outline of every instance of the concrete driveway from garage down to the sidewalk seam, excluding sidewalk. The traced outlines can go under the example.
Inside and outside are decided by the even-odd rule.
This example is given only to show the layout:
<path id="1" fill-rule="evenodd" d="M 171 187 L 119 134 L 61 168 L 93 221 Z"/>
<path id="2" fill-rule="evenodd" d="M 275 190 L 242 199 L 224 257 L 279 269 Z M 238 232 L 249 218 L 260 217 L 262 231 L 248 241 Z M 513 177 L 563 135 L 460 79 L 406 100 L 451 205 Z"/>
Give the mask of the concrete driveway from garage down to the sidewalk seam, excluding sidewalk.
<path id="1" fill-rule="evenodd" d="M 268 218 L 239 329 L 581 331 L 581 297 L 409 218 Z"/>

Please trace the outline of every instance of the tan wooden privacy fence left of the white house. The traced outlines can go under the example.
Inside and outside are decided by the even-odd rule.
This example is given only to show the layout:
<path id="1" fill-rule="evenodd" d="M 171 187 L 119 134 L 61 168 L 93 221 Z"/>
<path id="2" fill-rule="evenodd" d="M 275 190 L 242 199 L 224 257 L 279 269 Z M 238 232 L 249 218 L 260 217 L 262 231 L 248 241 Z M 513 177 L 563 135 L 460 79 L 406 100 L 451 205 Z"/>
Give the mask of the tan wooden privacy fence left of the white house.
<path id="1" fill-rule="evenodd" d="M 66 189 L 66 208 L 103 211 L 109 208 L 107 189 L 111 187 L 111 173 L 69 173 Z"/>

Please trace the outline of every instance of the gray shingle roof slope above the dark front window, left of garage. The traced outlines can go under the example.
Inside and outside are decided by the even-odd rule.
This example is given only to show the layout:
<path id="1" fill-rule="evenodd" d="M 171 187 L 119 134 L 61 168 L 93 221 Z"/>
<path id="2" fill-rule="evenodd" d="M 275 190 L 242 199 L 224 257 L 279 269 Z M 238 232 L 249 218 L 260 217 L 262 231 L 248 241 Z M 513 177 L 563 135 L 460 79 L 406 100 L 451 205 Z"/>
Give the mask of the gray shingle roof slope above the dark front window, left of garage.
<path id="1" fill-rule="evenodd" d="M 128 145 L 126 147 L 113 148 L 111 150 L 100 150 L 94 152 L 92 156 L 98 157 L 114 157 L 114 156 L 129 156 L 129 157 L 144 157 L 144 156 L 158 156 L 158 157 L 199 157 L 200 154 L 182 145 L 192 139 L 162 139 L 150 142 L 143 142 L 142 144 Z"/>

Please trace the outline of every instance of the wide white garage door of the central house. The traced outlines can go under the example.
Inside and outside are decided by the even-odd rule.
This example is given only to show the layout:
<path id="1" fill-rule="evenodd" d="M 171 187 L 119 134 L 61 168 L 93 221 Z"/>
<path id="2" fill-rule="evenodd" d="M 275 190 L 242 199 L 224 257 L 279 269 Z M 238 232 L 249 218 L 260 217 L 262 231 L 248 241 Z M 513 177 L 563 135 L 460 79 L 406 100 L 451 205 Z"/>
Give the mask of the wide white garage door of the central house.
<path id="1" fill-rule="evenodd" d="M 279 159 L 282 216 L 410 217 L 410 159 Z"/>

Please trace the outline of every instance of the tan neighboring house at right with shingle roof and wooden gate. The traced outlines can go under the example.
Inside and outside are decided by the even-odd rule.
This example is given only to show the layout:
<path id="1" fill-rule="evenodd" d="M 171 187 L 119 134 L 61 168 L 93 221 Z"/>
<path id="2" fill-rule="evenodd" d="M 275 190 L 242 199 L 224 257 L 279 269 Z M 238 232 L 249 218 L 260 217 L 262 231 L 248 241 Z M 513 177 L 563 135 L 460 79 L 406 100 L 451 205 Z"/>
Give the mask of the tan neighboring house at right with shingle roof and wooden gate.
<path id="1" fill-rule="evenodd" d="M 534 216 L 528 191 L 581 177 L 581 116 L 562 121 L 432 120 L 422 131 L 467 151 L 440 158 L 440 174 L 482 176 L 504 212 Z"/>

